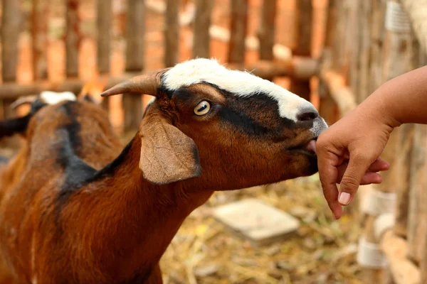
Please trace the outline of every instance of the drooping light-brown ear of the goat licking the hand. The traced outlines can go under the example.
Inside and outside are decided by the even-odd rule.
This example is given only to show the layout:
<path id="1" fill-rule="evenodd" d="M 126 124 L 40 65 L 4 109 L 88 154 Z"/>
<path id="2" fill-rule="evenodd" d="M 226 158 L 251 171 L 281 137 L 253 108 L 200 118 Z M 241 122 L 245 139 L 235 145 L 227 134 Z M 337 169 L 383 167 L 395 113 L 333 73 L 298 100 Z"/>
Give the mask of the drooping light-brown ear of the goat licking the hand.
<path id="1" fill-rule="evenodd" d="M 196 178 L 201 174 L 196 143 L 167 119 L 146 114 L 142 119 L 139 168 L 157 185 Z"/>

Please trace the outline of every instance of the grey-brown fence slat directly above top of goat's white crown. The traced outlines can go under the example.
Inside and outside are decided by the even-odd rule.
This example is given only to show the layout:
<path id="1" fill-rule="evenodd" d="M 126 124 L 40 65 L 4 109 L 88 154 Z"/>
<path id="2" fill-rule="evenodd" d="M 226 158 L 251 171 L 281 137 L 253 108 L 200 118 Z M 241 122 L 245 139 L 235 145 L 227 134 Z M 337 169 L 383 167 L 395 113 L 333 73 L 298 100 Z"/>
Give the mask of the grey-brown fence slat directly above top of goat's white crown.
<path id="1" fill-rule="evenodd" d="M 211 53 L 209 27 L 214 1 L 196 0 L 194 18 L 193 58 L 209 58 Z"/>

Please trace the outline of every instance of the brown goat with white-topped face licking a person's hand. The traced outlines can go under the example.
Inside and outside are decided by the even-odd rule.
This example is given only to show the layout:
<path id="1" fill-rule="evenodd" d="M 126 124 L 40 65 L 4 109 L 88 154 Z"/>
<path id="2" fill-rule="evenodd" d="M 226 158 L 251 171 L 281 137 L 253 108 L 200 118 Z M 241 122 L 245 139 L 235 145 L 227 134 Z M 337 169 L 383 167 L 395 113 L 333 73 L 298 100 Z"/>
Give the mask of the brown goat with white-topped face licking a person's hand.
<path id="1" fill-rule="evenodd" d="M 247 72 L 189 60 L 104 95 L 120 93 L 155 97 L 124 149 L 95 104 L 31 117 L 26 168 L 0 201 L 0 252 L 16 283 L 162 283 L 159 259 L 215 190 L 317 171 L 310 145 L 325 121 Z"/>

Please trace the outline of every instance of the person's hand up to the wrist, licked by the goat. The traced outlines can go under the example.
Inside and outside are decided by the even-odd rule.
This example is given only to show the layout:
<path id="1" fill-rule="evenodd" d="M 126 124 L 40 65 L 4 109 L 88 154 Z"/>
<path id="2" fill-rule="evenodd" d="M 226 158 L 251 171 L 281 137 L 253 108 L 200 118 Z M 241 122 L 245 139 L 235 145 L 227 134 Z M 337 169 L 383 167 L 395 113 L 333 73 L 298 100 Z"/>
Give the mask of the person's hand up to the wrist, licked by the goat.
<path id="1" fill-rule="evenodd" d="M 389 169 L 379 156 L 393 127 L 385 117 L 376 117 L 378 111 L 361 104 L 317 139 L 320 182 L 335 219 L 341 217 L 342 205 L 352 201 L 359 185 L 381 183 L 377 172 Z M 337 184 L 341 184 L 339 191 Z"/>

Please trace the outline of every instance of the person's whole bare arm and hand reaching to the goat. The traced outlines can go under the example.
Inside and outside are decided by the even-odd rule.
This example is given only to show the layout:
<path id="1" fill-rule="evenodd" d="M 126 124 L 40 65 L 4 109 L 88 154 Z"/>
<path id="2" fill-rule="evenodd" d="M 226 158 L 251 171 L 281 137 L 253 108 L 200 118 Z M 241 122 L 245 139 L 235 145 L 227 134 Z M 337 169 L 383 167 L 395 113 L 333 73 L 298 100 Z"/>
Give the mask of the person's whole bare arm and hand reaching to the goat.
<path id="1" fill-rule="evenodd" d="M 359 185 L 381 182 L 376 172 L 389 165 L 378 157 L 391 131 L 401 124 L 427 124 L 426 108 L 427 67 L 421 67 L 381 85 L 320 135 L 320 181 L 334 217 L 341 216 L 341 206 L 351 202 Z"/>

